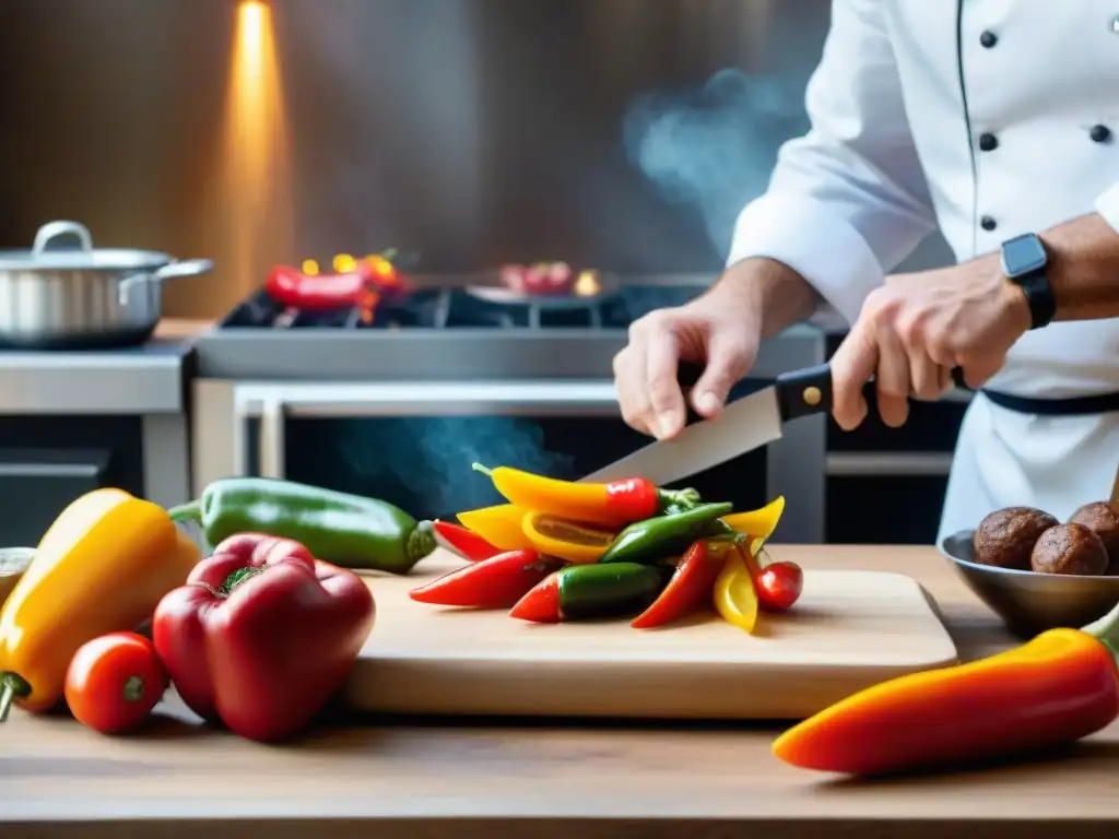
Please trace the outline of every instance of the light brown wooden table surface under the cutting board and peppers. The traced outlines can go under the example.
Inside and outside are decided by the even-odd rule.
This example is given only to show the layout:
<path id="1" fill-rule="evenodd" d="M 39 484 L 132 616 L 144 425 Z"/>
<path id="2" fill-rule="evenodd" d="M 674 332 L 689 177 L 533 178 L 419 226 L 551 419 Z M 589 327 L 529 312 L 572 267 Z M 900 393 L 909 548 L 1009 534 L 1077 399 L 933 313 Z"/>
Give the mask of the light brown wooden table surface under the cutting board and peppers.
<path id="1" fill-rule="evenodd" d="M 771 553 L 806 567 L 904 569 L 937 600 L 963 658 L 1012 643 L 932 548 Z M 243 838 L 245 820 L 272 820 L 271 839 L 942 839 L 953 829 L 1068 839 L 1110 836 L 1119 821 L 1119 726 L 1031 763 L 881 782 L 786 766 L 769 752 L 777 730 L 370 719 L 269 747 L 175 718 L 109 738 L 13 713 L 0 728 L 0 837 Z"/>

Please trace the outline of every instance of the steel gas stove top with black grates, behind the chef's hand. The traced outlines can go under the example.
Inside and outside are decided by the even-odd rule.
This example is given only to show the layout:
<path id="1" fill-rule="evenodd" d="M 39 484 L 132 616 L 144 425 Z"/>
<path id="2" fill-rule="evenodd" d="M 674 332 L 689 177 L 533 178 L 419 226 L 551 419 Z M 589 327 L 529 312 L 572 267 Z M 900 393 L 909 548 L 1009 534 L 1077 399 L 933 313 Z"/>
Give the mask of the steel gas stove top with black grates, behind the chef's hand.
<path id="1" fill-rule="evenodd" d="M 411 277 L 414 290 L 329 312 L 285 309 L 262 290 L 197 346 L 209 378 L 462 380 L 611 378 L 611 359 L 638 318 L 686 303 L 712 276 L 623 280 L 585 303 L 486 300 L 455 277 Z"/>

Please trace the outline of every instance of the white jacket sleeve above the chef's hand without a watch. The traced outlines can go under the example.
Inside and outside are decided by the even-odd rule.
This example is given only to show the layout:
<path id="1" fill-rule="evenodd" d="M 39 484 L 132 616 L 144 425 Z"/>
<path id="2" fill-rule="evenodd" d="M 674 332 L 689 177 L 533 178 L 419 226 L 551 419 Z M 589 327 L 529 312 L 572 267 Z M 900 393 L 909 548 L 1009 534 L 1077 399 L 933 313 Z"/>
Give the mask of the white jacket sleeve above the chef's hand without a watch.
<path id="1" fill-rule="evenodd" d="M 727 264 L 765 256 L 797 271 L 853 323 L 886 273 L 935 229 L 880 0 L 833 0 L 808 83 L 809 132 L 778 154 L 768 191 L 735 224 Z"/>

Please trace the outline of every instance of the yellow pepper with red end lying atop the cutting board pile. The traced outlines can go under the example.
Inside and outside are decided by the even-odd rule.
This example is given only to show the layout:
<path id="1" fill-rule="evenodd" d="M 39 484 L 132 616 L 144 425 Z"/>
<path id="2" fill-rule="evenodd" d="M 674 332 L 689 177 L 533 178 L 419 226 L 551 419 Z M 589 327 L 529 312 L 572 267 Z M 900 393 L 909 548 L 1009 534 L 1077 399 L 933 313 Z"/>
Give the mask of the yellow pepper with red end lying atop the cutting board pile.
<path id="1" fill-rule="evenodd" d="M 699 493 L 694 489 L 662 490 L 643 478 L 577 483 L 510 466 L 473 465 L 476 471 L 489 475 L 497 491 L 518 507 L 589 525 L 621 528 L 652 518 L 670 505 L 694 507 L 699 501 Z"/>

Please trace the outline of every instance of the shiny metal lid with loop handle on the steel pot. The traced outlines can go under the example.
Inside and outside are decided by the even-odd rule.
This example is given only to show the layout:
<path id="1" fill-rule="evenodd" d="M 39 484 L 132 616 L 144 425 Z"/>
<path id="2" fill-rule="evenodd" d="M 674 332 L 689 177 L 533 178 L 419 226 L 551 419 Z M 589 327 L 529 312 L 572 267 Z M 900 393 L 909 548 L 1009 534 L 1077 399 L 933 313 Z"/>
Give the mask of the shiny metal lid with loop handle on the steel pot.
<path id="1" fill-rule="evenodd" d="M 172 261 L 157 251 L 95 248 L 90 230 L 77 221 L 43 225 L 30 251 L 0 251 L 0 271 L 135 271 L 154 270 Z"/>

